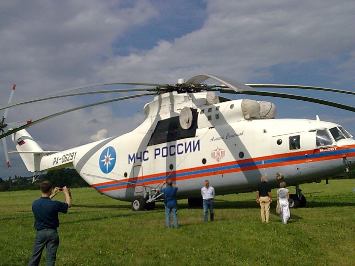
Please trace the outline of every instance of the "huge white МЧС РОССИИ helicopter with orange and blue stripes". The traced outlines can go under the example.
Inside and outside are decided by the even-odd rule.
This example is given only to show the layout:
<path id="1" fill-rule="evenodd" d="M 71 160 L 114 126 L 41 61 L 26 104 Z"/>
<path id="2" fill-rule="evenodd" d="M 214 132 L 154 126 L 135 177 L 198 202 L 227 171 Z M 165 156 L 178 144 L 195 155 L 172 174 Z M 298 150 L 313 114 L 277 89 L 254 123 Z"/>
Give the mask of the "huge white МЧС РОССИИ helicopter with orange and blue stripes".
<path id="1" fill-rule="evenodd" d="M 207 79 L 214 79 L 221 85 L 201 84 Z M 224 195 L 255 191 L 263 175 L 268 177 L 273 188 L 279 187 L 282 180 L 288 186 L 296 186 L 296 194 L 291 195 L 294 206 L 304 207 L 306 199 L 299 184 L 345 175 L 353 168 L 355 140 L 340 125 L 321 121 L 318 117 L 316 120 L 275 119 L 276 108 L 270 102 L 229 100 L 215 91 L 292 98 L 355 111 L 351 106 L 255 88 L 301 88 L 355 94 L 353 92 L 296 85 L 245 85 L 209 74 L 198 75 L 188 82 L 180 79 L 174 85 L 115 84 L 151 87 L 115 90 L 147 93 L 65 110 L 13 126 L 11 130 L 6 130 L 4 116 L 0 138 L 12 135 L 17 151 L 11 153 L 21 156 L 28 171 L 34 172 L 33 180 L 43 171 L 74 167 L 99 193 L 131 202 L 133 210 L 154 209 L 155 202 L 163 201 L 157 188 L 167 178 L 179 187 L 179 199 L 187 198 L 190 206 L 197 206 L 202 202 L 200 189 L 206 179 L 214 185 L 217 195 Z M 86 87 L 92 86 L 97 85 Z M 20 104 L 89 93 L 51 94 L 0 109 L 7 112 L 8 108 Z M 155 95 L 144 107 L 146 119 L 122 136 L 64 151 L 45 151 L 25 130 L 69 111 L 145 95 Z"/>

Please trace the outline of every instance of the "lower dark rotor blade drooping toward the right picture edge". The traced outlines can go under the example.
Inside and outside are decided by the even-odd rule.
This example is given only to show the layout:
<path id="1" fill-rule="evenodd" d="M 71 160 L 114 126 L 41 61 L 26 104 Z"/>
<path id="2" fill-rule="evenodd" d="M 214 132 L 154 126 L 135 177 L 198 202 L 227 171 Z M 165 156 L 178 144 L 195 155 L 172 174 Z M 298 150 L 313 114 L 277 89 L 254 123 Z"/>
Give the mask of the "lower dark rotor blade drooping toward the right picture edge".
<path id="1" fill-rule="evenodd" d="M 235 93 L 233 90 L 228 90 L 228 89 L 227 90 L 222 89 L 222 90 L 220 90 L 220 92 L 221 93 Z M 340 103 L 336 103 L 336 102 L 330 102 L 330 101 L 326 101 L 326 100 L 321 100 L 321 99 L 300 96 L 300 95 L 277 93 L 277 92 L 266 92 L 266 91 L 243 91 L 243 92 L 240 92 L 240 94 L 270 96 L 270 97 L 276 97 L 276 98 L 286 98 L 286 99 L 314 102 L 314 103 L 324 104 L 324 105 L 336 107 L 339 109 L 355 112 L 355 107 L 352 107 L 352 106 L 348 106 L 348 105 L 344 105 L 344 104 L 340 104 Z"/>

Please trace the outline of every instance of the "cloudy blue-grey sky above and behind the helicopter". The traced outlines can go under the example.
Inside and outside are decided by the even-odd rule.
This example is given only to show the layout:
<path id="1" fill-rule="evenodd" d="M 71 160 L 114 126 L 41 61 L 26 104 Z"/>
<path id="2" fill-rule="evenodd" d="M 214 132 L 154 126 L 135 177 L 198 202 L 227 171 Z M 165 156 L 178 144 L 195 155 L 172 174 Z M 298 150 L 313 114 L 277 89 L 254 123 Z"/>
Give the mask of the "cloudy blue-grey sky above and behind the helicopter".
<path id="1" fill-rule="evenodd" d="M 355 2 L 290 0 L 2 1 L 0 106 L 77 86 L 140 82 L 174 84 L 198 74 L 241 83 L 294 84 L 355 91 Z M 206 81 L 215 84 L 213 80 Z M 132 88 L 103 87 L 97 89 Z M 355 96 L 289 89 L 355 106 Z M 78 91 L 82 92 L 82 91 Z M 72 97 L 11 108 L 6 122 L 52 113 L 127 93 Z M 341 124 L 355 136 L 350 111 L 319 104 L 248 95 L 271 101 L 276 118 Z M 146 96 L 71 112 L 28 128 L 44 150 L 64 150 L 121 135 L 143 120 Z M 0 116 L 3 116 L 0 110 Z M 9 150 L 15 150 L 7 137 Z M 0 148 L 3 150 L 2 144 Z M 31 176 L 19 155 L 0 177 Z"/>

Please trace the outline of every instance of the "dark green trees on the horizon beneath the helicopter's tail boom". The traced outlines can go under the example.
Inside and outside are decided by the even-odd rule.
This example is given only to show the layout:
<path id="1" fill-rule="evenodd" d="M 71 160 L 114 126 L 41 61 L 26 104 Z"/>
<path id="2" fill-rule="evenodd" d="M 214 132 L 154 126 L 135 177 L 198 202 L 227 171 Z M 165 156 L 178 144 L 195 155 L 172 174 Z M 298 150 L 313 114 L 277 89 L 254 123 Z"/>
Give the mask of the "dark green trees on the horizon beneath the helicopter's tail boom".
<path id="1" fill-rule="evenodd" d="M 52 182 L 53 186 L 67 186 L 69 188 L 86 187 L 88 185 L 72 168 L 64 168 L 57 170 L 50 170 L 46 174 L 40 175 L 37 181 L 32 183 L 32 176 L 22 177 L 16 176 L 4 180 L 0 178 L 0 192 L 5 191 L 23 191 L 23 190 L 38 190 L 40 189 L 40 183 L 44 180 Z"/>

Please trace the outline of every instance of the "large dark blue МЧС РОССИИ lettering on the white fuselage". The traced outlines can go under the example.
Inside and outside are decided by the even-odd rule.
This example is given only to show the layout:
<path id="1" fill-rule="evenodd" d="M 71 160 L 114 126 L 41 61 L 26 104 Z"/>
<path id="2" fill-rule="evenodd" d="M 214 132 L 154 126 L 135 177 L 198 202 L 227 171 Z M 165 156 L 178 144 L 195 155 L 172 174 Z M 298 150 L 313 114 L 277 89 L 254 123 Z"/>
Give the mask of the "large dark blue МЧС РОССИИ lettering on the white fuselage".
<path id="1" fill-rule="evenodd" d="M 184 143 L 170 144 L 164 147 L 154 149 L 154 159 L 166 158 L 169 156 L 182 155 L 187 153 L 194 153 L 200 150 L 200 140 L 193 140 Z M 135 162 L 148 161 L 150 159 L 149 150 L 138 151 L 138 153 L 128 155 L 128 164 Z"/>

